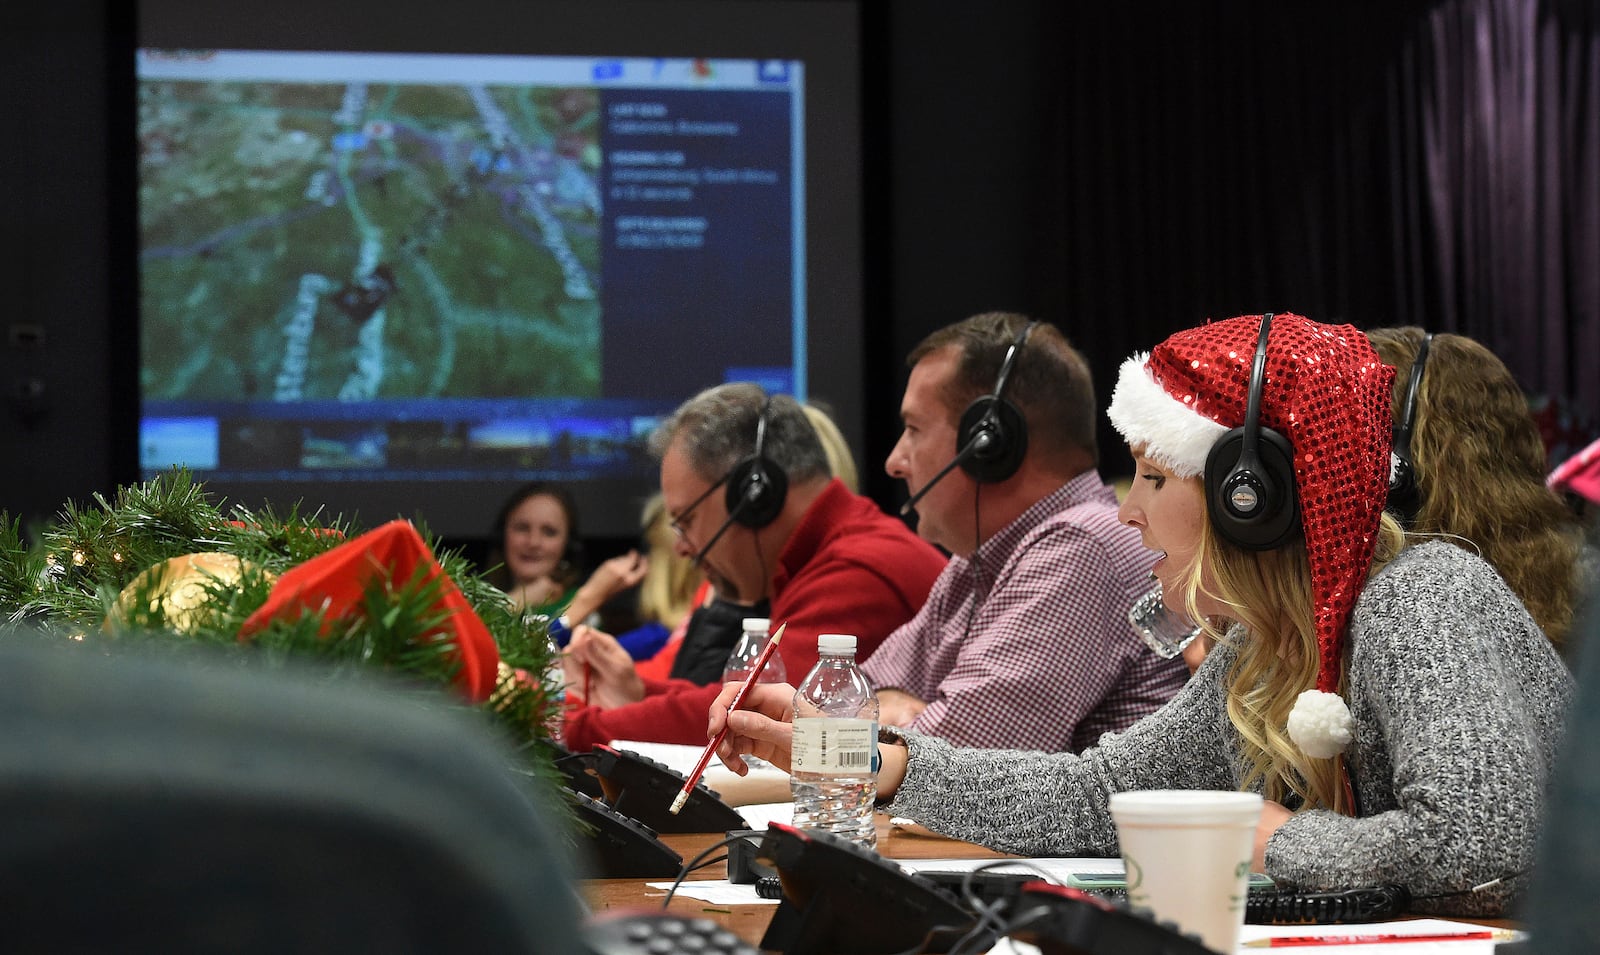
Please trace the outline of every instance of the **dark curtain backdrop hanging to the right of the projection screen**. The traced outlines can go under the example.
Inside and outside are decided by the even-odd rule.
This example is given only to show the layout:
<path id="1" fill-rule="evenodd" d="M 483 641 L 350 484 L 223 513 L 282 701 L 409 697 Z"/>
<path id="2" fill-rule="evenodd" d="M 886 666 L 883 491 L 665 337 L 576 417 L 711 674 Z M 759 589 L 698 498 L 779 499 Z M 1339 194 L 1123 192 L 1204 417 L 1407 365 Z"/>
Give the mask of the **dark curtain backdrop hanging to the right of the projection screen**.
<path id="1" fill-rule="evenodd" d="M 1102 394 L 1178 328 L 1294 310 L 1470 334 L 1595 427 L 1597 8 L 1040 6 L 1027 299 Z"/>

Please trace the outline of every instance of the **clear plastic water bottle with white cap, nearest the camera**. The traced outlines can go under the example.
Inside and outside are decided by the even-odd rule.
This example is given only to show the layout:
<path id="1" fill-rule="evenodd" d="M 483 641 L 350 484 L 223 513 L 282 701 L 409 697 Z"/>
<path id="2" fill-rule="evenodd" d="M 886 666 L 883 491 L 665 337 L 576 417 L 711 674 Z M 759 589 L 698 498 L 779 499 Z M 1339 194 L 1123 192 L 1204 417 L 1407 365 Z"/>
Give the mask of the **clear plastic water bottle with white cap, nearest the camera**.
<path id="1" fill-rule="evenodd" d="M 790 789 L 797 829 L 826 829 L 874 848 L 878 830 L 878 697 L 856 665 L 856 638 L 822 633 L 816 667 L 795 689 Z"/>

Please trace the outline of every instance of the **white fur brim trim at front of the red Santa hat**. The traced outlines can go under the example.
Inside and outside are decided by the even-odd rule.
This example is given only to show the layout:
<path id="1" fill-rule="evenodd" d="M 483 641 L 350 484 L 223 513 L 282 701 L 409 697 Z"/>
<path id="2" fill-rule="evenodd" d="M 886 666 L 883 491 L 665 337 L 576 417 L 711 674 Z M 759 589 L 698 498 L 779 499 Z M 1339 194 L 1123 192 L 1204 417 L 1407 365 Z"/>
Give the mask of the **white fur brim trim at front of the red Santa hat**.
<path id="1" fill-rule="evenodd" d="M 1146 458 L 1181 478 L 1197 477 L 1205 472 L 1211 445 L 1229 429 L 1150 378 L 1149 358 L 1149 352 L 1139 352 L 1122 363 L 1106 414 L 1128 445 L 1144 448 Z"/>

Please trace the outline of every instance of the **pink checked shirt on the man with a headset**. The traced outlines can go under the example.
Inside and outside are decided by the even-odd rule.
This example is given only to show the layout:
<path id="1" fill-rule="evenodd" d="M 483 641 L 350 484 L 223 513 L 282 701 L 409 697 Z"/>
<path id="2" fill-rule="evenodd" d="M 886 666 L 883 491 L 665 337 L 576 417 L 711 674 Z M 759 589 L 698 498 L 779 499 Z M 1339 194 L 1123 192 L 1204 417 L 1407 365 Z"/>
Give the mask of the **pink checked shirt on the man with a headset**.
<path id="1" fill-rule="evenodd" d="M 1158 709 L 1189 675 L 1128 624 L 1155 557 L 1117 521 L 1117 494 L 1085 472 L 973 560 L 952 558 L 922 611 L 862 670 L 878 689 L 928 702 L 910 725 L 918 733 L 981 749 L 1078 752 Z"/>

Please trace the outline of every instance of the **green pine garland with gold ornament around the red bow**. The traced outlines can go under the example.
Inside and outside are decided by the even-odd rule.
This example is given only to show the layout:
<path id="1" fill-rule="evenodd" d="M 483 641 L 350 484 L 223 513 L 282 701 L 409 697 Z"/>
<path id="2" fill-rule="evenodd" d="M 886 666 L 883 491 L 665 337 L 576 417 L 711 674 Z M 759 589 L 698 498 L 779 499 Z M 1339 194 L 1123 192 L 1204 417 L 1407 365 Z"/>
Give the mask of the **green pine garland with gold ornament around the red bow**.
<path id="1" fill-rule="evenodd" d="M 418 529 L 494 637 L 501 662 L 534 675 L 502 680 L 482 710 L 518 747 L 518 769 L 555 785 L 550 752 L 541 745 L 542 728 L 558 717 L 560 705 L 538 678 L 554 662 L 546 621 L 515 611 L 466 557 L 440 550 L 426 528 Z M 120 488 L 112 501 L 96 494 L 93 507 L 69 502 L 34 545 L 24 542 L 21 521 L 0 512 L 0 624 L 83 645 L 202 645 L 240 665 L 317 661 L 330 680 L 378 669 L 403 683 L 448 686 L 459 662 L 450 643 L 430 638 L 443 622 L 432 609 L 442 581 L 427 581 L 426 573 L 371 581 L 358 614 L 338 621 L 318 614 L 275 619 L 250 641 L 238 640 L 245 619 L 266 603 L 278 574 L 355 536 L 358 531 L 341 520 L 323 521 L 298 509 L 280 517 L 270 507 L 234 505 L 224 515 L 184 469 Z M 147 568 L 197 552 L 222 552 L 243 561 L 238 579 L 203 584 L 205 600 L 197 609 L 170 614 L 155 576 L 123 593 Z M 448 693 L 432 696 L 451 699 Z"/>

